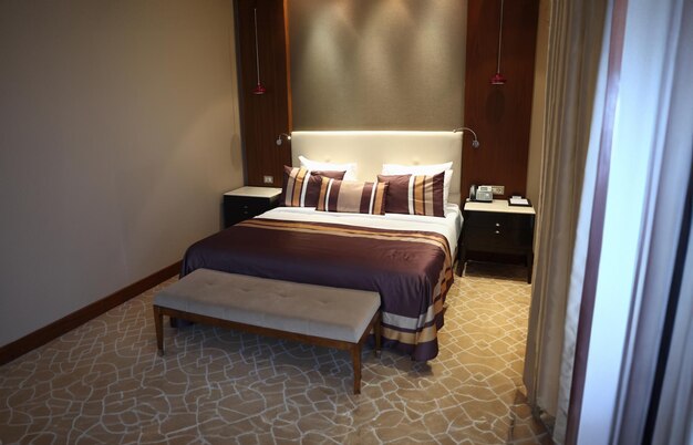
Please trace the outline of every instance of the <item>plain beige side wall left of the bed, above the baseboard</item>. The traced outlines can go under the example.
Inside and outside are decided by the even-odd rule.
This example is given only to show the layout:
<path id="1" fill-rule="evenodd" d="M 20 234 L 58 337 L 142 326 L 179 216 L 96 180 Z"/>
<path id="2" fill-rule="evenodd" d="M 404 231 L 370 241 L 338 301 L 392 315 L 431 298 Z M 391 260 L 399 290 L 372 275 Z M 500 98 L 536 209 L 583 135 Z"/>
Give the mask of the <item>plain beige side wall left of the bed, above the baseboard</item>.
<path id="1" fill-rule="evenodd" d="M 0 2 L 0 345 L 219 229 L 232 34 L 229 0 Z"/>

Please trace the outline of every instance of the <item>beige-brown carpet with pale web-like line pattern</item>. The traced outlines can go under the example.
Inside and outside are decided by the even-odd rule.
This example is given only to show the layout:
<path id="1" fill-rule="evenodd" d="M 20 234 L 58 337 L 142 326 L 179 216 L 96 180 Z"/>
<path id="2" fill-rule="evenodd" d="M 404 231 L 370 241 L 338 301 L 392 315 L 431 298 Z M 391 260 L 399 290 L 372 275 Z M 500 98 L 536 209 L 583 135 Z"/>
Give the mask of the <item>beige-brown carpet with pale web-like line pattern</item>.
<path id="1" fill-rule="evenodd" d="M 0 444 L 550 444 L 524 403 L 526 269 L 469 262 L 427 363 L 166 323 L 174 279 L 0 368 Z"/>

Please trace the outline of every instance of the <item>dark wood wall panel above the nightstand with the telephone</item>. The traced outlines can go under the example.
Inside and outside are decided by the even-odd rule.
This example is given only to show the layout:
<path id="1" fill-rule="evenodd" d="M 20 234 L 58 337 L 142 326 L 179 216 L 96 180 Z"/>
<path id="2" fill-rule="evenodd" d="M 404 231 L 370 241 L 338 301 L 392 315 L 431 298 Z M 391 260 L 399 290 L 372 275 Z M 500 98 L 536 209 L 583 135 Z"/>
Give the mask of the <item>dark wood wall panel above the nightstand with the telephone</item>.
<path id="1" fill-rule="evenodd" d="M 482 145 L 472 148 L 464 135 L 462 189 L 503 185 L 505 196 L 526 195 L 539 1 L 505 2 L 500 72 L 508 81 L 492 85 L 499 14 L 500 0 L 468 1 L 464 115 Z"/>

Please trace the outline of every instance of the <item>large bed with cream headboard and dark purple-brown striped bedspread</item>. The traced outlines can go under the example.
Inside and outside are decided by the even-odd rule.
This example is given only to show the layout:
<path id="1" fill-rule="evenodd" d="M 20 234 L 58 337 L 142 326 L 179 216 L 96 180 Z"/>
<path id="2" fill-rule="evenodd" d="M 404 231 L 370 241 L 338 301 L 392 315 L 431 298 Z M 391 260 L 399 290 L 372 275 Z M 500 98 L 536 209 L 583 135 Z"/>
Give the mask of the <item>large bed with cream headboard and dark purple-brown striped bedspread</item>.
<path id="1" fill-rule="evenodd" d="M 350 172 L 350 177 L 342 179 L 328 179 L 309 172 L 303 178 L 306 183 L 301 183 L 302 189 L 321 187 L 318 194 L 321 200 L 317 205 L 306 200 L 301 204 L 308 206 L 280 206 L 194 244 L 185 253 L 180 276 L 206 268 L 375 290 L 382 299 L 383 346 L 410 354 L 416 361 L 435 358 L 438 353 L 437 332 L 444 324 L 445 297 L 454 280 L 453 262 L 462 229 L 458 207 L 461 135 L 452 132 L 294 132 L 291 143 L 296 166 L 291 175 L 306 173 L 304 168 L 298 170 L 302 161 L 309 159 L 329 163 L 324 164 L 327 166 L 353 163 L 355 169 Z M 449 189 L 442 209 L 443 173 L 423 174 L 415 167 L 415 173 L 408 175 L 412 187 L 414 177 L 426 178 L 426 187 L 431 185 L 426 190 L 435 190 L 435 195 L 433 192 L 425 195 L 428 207 L 421 211 L 425 215 L 376 215 L 384 211 L 386 201 L 380 208 L 375 197 L 382 192 L 382 196 L 396 198 L 392 194 L 399 184 L 396 180 L 407 176 L 396 174 L 393 164 L 402 168 L 422 166 L 425 170 L 423 166 L 449 162 L 452 172 L 446 177 Z M 382 182 L 376 180 L 383 164 L 390 164 L 389 168 L 395 172 L 381 177 L 389 179 L 389 187 L 384 189 Z M 316 172 L 317 168 L 309 170 Z M 288 177 L 288 183 L 292 184 L 294 177 Z M 308 179 L 310 185 L 304 185 Z M 359 188 L 361 195 L 354 195 L 356 192 L 350 187 L 363 186 L 362 182 L 372 182 L 371 188 L 365 184 L 365 188 Z M 335 189 L 339 200 L 337 195 L 334 199 L 330 195 Z M 412 193 L 410 190 L 410 210 L 413 209 Z M 349 203 L 352 195 L 364 197 L 360 204 L 354 204 L 355 208 L 346 206 L 344 211 L 334 204 Z M 291 203 L 286 196 L 282 199 Z M 394 206 L 396 199 L 391 203 Z M 330 207 L 333 204 L 334 207 Z M 363 211 L 364 208 L 368 211 Z M 436 216 L 431 216 L 433 211 Z"/>

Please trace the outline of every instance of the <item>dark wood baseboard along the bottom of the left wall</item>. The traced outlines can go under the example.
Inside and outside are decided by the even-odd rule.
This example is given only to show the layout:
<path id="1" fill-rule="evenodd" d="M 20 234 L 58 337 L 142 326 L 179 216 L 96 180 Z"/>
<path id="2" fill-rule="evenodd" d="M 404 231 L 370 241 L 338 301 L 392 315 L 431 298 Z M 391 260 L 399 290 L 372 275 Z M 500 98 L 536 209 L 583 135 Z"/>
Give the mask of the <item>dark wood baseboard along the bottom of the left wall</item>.
<path id="1" fill-rule="evenodd" d="M 99 301 L 79 309 L 51 324 L 39 329 L 30 334 L 22 337 L 12 343 L 0 348 L 0 365 L 11 362 L 12 360 L 33 351 L 59 338 L 60 335 L 72 331 L 73 329 L 86 323 L 87 321 L 101 315 L 102 313 L 115 308 L 125 301 L 137 297 L 138 294 L 152 289 L 180 271 L 180 261 L 173 263 L 164 269 L 152 273 L 142 280 L 134 282 Z"/>

